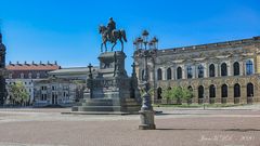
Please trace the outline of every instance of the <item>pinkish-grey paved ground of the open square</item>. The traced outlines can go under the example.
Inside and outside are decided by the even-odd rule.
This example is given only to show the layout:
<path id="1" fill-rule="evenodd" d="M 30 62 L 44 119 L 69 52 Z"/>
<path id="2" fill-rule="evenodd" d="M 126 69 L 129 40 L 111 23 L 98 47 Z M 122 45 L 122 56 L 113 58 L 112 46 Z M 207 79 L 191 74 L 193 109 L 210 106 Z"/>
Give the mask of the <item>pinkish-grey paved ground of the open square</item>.
<path id="1" fill-rule="evenodd" d="M 260 109 L 176 109 L 138 130 L 138 115 L 62 115 L 64 109 L 0 109 L 0 146 L 260 146 Z"/>

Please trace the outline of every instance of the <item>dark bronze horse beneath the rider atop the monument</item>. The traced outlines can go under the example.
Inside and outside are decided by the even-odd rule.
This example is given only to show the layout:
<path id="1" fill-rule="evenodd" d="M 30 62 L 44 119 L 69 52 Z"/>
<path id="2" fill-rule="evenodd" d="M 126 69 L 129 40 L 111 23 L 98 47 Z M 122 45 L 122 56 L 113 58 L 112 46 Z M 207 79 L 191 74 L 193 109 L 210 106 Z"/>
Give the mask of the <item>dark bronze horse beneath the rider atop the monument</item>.
<path id="1" fill-rule="evenodd" d="M 103 45 L 105 45 L 105 52 L 107 52 L 106 42 L 109 41 L 113 43 L 112 51 L 117 44 L 117 40 L 121 42 L 121 51 L 123 51 L 123 41 L 127 42 L 126 31 L 123 29 L 113 30 L 110 34 L 110 38 L 108 37 L 108 30 L 106 26 L 101 25 L 99 27 L 99 31 L 102 35 L 102 43 L 101 43 L 101 52 L 103 52 Z"/>

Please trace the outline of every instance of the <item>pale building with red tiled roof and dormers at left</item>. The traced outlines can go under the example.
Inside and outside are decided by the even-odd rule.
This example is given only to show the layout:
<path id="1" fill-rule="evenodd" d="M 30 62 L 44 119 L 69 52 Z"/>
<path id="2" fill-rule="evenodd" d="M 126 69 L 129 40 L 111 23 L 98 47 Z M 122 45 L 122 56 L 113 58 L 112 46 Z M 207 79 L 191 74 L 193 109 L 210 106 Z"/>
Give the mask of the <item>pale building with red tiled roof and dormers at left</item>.
<path id="1" fill-rule="evenodd" d="M 32 104 L 34 97 L 35 97 L 35 92 L 34 92 L 34 83 L 39 80 L 47 79 L 49 77 L 48 72 L 52 70 L 60 69 L 61 67 L 56 64 L 51 63 L 9 63 L 9 65 L 5 67 L 8 71 L 8 78 L 5 80 L 6 82 L 6 89 L 9 91 L 9 87 L 11 84 L 16 83 L 17 81 L 21 81 L 27 92 L 29 93 L 29 101 L 28 104 Z M 8 99 L 5 101 L 5 104 L 10 104 L 10 101 L 12 99 L 11 95 L 8 95 Z"/>

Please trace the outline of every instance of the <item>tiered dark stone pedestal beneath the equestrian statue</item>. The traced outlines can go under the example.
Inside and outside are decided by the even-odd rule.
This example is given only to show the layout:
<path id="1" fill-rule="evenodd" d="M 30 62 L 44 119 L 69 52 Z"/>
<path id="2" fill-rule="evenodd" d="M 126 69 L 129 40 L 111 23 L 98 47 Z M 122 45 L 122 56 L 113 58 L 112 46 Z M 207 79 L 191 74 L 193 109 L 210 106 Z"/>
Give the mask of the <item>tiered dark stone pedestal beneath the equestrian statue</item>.
<path id="1" fill-rule="evenodd" d="M 73 107 L 74 112 L 90 114 L 138 114 L 141 99 L 134 87 L 134 79 L 127 76 L 123 52 L 106 52 L 99 56 L 100 69 L 91 79 L 91 87 L 84 92 L 84 98 Z M 91 93 L 91 94 L 90 94 Z"/>

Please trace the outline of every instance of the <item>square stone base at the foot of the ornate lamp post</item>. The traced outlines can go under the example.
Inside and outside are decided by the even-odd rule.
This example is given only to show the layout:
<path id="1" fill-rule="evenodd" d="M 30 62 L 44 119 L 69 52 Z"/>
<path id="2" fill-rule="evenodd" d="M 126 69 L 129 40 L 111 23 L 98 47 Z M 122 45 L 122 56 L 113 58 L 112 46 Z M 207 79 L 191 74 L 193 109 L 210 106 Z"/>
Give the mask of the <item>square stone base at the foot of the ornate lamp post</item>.
<path id="1" fill-rule="evenodd" d="M 140 110 L 141 124 L 140 130 L 155 130 L 154 110 Z"/>

